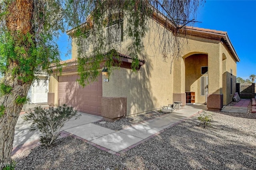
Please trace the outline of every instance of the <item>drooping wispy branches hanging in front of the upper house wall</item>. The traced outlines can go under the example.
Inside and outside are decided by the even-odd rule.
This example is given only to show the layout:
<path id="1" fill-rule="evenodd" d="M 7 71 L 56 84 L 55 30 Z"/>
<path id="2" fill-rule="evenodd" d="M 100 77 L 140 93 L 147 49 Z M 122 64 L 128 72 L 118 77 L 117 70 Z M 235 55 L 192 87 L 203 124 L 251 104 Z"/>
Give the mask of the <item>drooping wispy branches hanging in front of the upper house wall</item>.
<path id="1" fill-rule="evenodd" d="M 121 43 L 108 43 L 106 40 L 105 28 L 118 24 L 115 32 L 118 32 L 122 24 L 124 37 L 131 43 L 126 49 L 126 54 L 133 59 L 132 68 L 138 67 L 144 47 L 148 44 L 143 42 L 147 33 L 155 32 L 159 37 L 157 49 L 161 51 L 163 61 L 170 61 L 180 57 L 186 37 L 185 26 L 193 24 L 194 17 L 202 1 L 194 0 L 87 0 L 80 3 L 80 0 L 72 0 L 68 4 L 70 10 L 65 15 L 69 20 L 69 26 L 75 28 L 70 31 L 73 39 L 78 44 L 78 72 L 80 73 L 80 84 L 84 80 L 95 80 L 98 76 L 100 63 L 103 60 L 104 67 L 111 72 L 114 65 L 112 57 L 117 57 L 112 49 L 120 50 Z M 78 5 L 79 4 L 79 5 Z M 82 15 L 79 15 L 82 14 Z M 150 19 L 161 18 L 157 27 L 152 27 Z M 123 23 L 122 23 L 123 22 Z M 162 25 L 167 28 L 162 30 Z M 182 37 L 182 38 L 180 38 Z M 108 38 L 108 37 L 107 37 Z M 112 37 L 114 38 L 114 37 Z M 86 41 L 85 41 L 86 39 Z M 186 40 L 185 40 L 186 41 Z M 84 51 L 84 46 L 90 43 L 90 52 Z M 152 44 L 150 44 L 152 45 Z M 109 51 L 112 51 L 109 53 Z M 111 55 L 105 55 L 106 53 Z M 90 64 L 88 64 L 90 63 Z"/>

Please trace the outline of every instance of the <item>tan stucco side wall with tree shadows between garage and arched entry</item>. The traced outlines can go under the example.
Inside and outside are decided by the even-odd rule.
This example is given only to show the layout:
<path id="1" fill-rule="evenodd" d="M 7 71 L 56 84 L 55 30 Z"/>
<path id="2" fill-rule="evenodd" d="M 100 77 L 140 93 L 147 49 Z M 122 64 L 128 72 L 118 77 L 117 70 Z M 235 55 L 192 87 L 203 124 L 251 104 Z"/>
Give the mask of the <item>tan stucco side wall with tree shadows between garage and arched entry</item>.
<path id="1" fill-rule="evenodd" d="M 170 73 L 170 60 L 163 61 L 159 48 L 159 35 L 164 29 L 153 20 L 149 24 L 152 30 L 160 32 L 151 31 L 146 34 L 143 40 L 144 51 L 139 55 L 140 59 L 145 60 L 145 64 L 140 71 L 117 69 L 110 76 L 109 82 L 102 84 L 103 97 L 127 97 L 127 115 L 160 109 L 173 102 L 173 72 Z M 172 36 L 171 32 L 169 36 Z M 124 37 L 118 51 L 129 54 L 128 48 L 131 45 L 132 42 Z"/>

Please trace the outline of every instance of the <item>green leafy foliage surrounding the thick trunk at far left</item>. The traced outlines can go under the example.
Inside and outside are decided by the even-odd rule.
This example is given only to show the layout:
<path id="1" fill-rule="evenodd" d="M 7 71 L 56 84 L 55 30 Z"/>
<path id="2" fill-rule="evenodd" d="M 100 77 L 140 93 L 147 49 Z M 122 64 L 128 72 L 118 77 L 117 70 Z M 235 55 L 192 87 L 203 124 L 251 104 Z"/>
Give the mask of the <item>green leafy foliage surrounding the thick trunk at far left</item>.
<path id="1" fill-rule="evenodd" d="M 59 30 L 65 30 L 64 18 L 53 20 L 53 16 L 62 13 L 58 5 L 60 2 L 34 0 L 30 4 L 34 7 L 32 19 L 28 21 L 31 28 L 27 32 L 22 28 L 17 30 L 10 18 L 23 16 L 12 13 L 12 3 L 10 0 L 1 1 L 0 71 L 3 75 L 12 71 L 13 77 L 18 75 L 22 83 L 28 83 L 34 79 L 34 71 L 39 67 L 46 70 L 51 63 L 60 61 L 56 38 L 60 35 Z M 16 65 L 10 70 L 13 63 Z"/>

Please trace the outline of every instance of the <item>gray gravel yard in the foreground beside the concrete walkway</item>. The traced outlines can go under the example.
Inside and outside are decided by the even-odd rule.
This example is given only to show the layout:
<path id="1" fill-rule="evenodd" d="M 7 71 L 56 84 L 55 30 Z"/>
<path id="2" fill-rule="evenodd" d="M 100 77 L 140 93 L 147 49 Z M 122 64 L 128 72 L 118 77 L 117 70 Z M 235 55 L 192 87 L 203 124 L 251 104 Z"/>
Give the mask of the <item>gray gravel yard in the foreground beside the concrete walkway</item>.
<path id="1" fill-rule="evenodd" d="M 253 113 L 213 114 L 212 127 L 199 127 L 197 114 L 120 156 L 68 136 L 53 147 L 37 146 L 12 158 L 24 170 L 256 169 Z"/>

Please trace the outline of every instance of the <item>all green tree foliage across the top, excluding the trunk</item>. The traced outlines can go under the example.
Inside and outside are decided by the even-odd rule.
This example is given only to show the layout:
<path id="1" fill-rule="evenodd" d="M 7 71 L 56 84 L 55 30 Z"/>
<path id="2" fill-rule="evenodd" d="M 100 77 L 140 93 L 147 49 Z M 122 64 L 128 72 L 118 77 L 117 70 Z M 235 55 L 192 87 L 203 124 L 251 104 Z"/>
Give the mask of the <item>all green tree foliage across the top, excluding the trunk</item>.
<path id="1" fill-rule="evenodd" d="M 17 17 L 13 16 L 10 10 L 12 1 L 1 2 L 1 73 L 4 75 L 9 70 L 10 63 L 15 62 L 17 65 L 11 69 L 12 75 L 19 75 L 23 83 L 30 82 L 35 78 L 33 73 L 38 67 L 46 70 L 51 63 L 58 65 L 60 53 L 56 40 L 60 35 L 59 30 L 64 32 L 66 28 L 76 28 L 73 36 L 77 38 L 81 85 L 96 79 L 100 63 L 104 60 L 104 66 L 111 71 L 114 65 L 112 57 L 118 57 L 109 51 L 118 49 L 120 43 L 106 44 L 106 33 L 102 28 L 125 20 L 124 36 L 132 40 L 128 55 L 133 58 L 132 66 L 135 70 L 144 47 L 142 40 L 146 33 L 153 31 L 152 29 L 160 30 L 160 24 L 158 28 L 151 28 L 149 19 L 153 15 L 164 15 L 162 19 L 166 24 L 172 25 L 174 36 L 170 37 L 169 30 L 154 31 L 158 32 L 160 37 L 158 48 L 163 60 L 173 61 L 175 57 L 179 57 L 184 45 L 178 37 L 186 35 L 183 28 L 194 22 L 198 7 L 202 3 L 194 0 L 180 0 L 175 3 L 169 0 L 34 0 L 30 20 L 32 28 L 23 34 L 20 30 L 8 28 L 8 18 Z M 88 39 L 87 42 L 82 41 L 84 38 Z M 90 53 L 83 51 L 84 43 L 88 42 L 92 48 Z M 105 55 L 106 53 L 110 55 Z"/>

